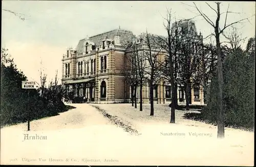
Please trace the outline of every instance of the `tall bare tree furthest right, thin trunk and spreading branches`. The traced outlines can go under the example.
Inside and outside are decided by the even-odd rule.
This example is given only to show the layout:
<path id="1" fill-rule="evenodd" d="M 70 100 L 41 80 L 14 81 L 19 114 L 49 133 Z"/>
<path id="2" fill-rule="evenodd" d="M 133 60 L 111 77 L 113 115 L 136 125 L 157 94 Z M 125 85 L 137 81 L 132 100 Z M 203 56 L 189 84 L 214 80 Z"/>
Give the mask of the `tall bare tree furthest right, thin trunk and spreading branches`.
<path id="1" fill-rule="evenodd" d="M 206 5 L 216 13 L 216 20 L 215 23 L 210 19 L 202 10 L 198 8 L 196 3 L 194 3 L 194 8 L 198 11 L 198 13 L 204 18 L 204 20 L 210 24 L 214 28 L 215 34 L 211 33 L 212 36 L 216 38 L 216 47 L 217 47 L 217 59 L 218 59 L 218 85 L 219 85 L 219 92 L 218 92 L 218 111 L 217 111 L 217 124 L 218 124 L 218 138 L 224 138 L 224 124 L 223 124 L 223 67 L 222 67 L 222 53 L 221 53 L 221 42 L 220 42 L 220 35 L 224 33 L 227 27 L 240 23 L 243 20 L 248 20 L 248 18 L 240 19 L 238 21 L 234 21 L 232 23 L 227 23 L 227 16 L 229 13 L 235 13 L 229 11 L 229 4 L 227 10 L 225 12 L 220 12 L 220 2 L 216 2 L 216 8 L 210 6 L 207 2 Z M 222 14 L 225 14 L 224 19 L 224 26 L 220 27 L 220 19 Z"/>

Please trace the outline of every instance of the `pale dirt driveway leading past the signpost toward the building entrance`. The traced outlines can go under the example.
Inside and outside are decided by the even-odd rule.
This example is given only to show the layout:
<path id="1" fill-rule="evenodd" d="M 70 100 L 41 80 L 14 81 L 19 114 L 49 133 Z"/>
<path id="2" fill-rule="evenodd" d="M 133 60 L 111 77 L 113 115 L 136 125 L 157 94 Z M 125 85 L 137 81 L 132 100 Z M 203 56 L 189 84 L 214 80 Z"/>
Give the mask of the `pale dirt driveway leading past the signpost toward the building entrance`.
<path id="1" fill-rule="evenodd" d="M 104 118 L 96 108 L 89 104 L 71 104 L 76 108 L 68 110 L 68 112 L 59 113 L 54 117 L 42 118 L 30 122 L 31 131 L 38 130 L 61 130 L 61 129 L 77 129 L 85 126 L 93 125 L 110 125 L 108 119 Z M 17 124 L 5 129 L 22 129 L 27 130 L 27 123 Z"/>

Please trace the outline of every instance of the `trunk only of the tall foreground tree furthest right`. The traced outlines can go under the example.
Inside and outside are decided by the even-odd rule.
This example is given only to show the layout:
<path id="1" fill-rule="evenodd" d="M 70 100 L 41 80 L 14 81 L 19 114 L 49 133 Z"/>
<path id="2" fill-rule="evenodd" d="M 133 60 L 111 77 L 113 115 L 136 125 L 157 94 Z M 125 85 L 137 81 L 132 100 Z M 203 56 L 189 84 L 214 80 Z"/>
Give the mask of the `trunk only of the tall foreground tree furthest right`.
<path id="1" fill-rule="evenodd" d="M 217 3 L 218 16 L 216 20 L 215 35 L 217 46 L 217 59 L 218 59 L 218 110 L 217 110 L 217 124 L 218 124 L 218 138 L 224 138 L 224 124 L 223 124 L 223 71 L 222 71 L 222 58 L 221 58 L 221 45 L 220 45 L 220 3 Z"/>

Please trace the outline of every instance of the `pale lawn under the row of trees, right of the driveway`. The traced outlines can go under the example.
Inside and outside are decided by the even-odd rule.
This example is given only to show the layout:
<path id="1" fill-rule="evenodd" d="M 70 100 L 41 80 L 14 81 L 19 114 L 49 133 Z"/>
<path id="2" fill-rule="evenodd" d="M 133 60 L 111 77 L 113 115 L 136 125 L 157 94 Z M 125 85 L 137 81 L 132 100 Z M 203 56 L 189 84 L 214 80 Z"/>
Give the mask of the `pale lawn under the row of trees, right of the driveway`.
<path id="1" fill-rule="evenodd" d="M 170 107 L 168 104 L 154 104 L 154 116 L 150 116 L 150 104 L 143 104 L 142 112 L 139 104 L 134 108 L 132 104 L 92 104 L 106 110 L 110 115 L 117 116 L 133 126 L 139 124 L 167 124 L 170 122 Z M 205 126 L 205 123 L 184 119 L 185 113 L 200 113 L 197 110 L 175 110 L 176 124 L 188 126 Z M 208 125 L 211 126 L 211 125 Z M 139 128 L 139 127 L 137 127 Z"/>

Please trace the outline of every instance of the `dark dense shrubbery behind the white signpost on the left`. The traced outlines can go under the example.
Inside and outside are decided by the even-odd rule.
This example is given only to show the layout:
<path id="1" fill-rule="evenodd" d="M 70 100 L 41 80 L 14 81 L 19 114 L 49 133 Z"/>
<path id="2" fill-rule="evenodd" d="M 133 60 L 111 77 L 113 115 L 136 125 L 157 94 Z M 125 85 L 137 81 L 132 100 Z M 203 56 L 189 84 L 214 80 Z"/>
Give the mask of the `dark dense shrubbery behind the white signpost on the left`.
<path id="1" fill-rule="evenodd" d="M 2 49 L 1 58 L 5 57 L 6 60 L 6 55 Z M 28 121 L 28 111 L 30 120 L 34 120 L 58 115 L 67 109 L 61 101 L 64 93 L 61 87 L 52 87 L 46 92 L 46 98 L 40 97 L 36 90 L 24 90 L 22 81 L 27 77 L 18 71 L 13 60 L 8 62 L 10 65 L 6 66 L 5 62 L 1 61 L 1 127 Z"/>

